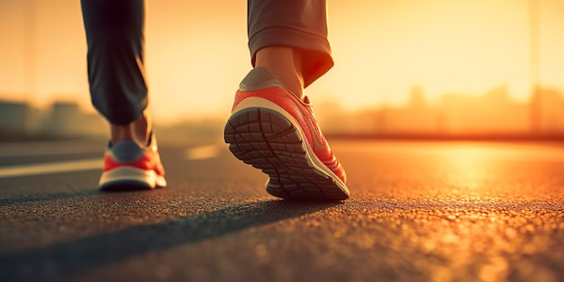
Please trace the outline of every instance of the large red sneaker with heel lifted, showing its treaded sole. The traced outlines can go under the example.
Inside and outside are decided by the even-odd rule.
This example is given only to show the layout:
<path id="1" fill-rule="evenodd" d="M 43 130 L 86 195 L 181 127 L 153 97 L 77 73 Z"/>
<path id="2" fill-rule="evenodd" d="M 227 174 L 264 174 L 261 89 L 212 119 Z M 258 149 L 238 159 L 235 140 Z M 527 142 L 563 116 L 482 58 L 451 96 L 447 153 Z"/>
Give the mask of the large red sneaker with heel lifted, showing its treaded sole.
<path id="1" fill-rule="evenodd" d="M 254 68 L 235 96 L 224 140 L 237 159 L 268 174 L 267 191 L 297 200 L 349 198 L 346 175 L 314 117 L 267 68 Z"/>

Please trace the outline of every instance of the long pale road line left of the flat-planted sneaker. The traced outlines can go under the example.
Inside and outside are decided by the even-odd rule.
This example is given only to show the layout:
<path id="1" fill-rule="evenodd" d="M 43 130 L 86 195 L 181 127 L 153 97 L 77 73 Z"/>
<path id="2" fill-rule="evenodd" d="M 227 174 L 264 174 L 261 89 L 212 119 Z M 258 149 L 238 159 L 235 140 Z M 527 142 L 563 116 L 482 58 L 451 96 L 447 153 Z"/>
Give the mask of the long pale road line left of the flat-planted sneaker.
<path id="1" fill-rule="evenodd" d="M 0 168 L 2 177 L 23 177 L 59 172 L 102 169 L 103 159 L 80 159 Z"/>

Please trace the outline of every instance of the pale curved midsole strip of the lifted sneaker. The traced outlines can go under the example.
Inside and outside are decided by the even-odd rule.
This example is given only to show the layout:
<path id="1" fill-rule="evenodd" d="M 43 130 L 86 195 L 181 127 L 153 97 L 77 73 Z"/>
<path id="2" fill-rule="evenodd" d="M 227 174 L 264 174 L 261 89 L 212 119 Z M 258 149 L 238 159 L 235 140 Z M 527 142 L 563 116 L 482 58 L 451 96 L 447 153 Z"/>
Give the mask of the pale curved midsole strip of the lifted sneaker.
<path id="1" fill-rule="evenodd" d="M 290 121 L 290 123 L 294 124 L 294 126 L 297 129 L 298 135 L 300 135 L 302 144 L 305 144 L 305 153 L 307 154 L 308 157 L 307 158 L 308 164 L 315 170 L 324 173 L 325 176 L 332 177 L 332 179 L 335 181 L 337 186 L 341 188 L 342 191 L 346 192 L 347 195 L 350 194 L 349 188 L 344 184 L 344 182 L 342 182 L 341 178 L 337 177 L 337 175 L 335 175 L 335 173 L 332 172 L 331 168 L 325 166 L 325 164 L 323 164 L 323 161 L 317 158 L 317 156 L 314 153 L 314 150 L 311 148 L 309 142 L 305 138 L 305 133 L 302 132 L 302 126 L 296 121 L 296 118 L 294 118 L 292 114 L 289 114 L 281 106 L 276 105 L 275 103 L 260 97 L 250 97 L 243 100 L 239 105 L 237 105 L 233 109 L 232 114 L 237 114 L 238 112 L 241 112 L 242 110 L 248 108 L 265 108 L 265 109 L 276 111 L 277 113 L 284 115 L 284 117 L 286 117 L 287 120 Z"/>

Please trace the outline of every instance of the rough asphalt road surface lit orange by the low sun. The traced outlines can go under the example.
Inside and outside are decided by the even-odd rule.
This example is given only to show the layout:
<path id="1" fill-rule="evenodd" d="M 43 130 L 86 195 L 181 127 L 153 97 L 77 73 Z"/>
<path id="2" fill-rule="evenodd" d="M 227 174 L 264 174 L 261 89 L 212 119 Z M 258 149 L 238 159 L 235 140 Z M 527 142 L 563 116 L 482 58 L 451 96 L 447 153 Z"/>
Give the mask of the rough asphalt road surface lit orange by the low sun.
<path id="1" fill-rule="evenodd" d="M 0 144 L 0 281 L 564 281 L 563 144 L 331 144 L 340 203 L 268 196 L 224 144 L 123 193 L 99 142 Z"/>

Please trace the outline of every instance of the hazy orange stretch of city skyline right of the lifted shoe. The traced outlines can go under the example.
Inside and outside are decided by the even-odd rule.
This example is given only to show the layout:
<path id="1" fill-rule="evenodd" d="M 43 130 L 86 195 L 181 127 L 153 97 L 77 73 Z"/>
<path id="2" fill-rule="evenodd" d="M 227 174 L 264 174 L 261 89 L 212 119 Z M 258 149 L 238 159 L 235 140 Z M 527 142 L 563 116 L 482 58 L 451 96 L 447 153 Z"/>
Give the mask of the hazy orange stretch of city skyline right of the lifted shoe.
<path id="1" fill-rule="evenodd" d="M 564 135 L 564 98 L 555 89 L 538 88 L 530 103 L 516 103 L 506 86 L 481 96 L 446 94 L 427 101 L 414 86 L 405 106 L 381 106 L 343 113 L 325 103 L 318 117 L 326 133 L 374 136 L 542 136 Z M 541 109 L 535 112 L 534 109 Z M 535 130 L 532 132 L 531 128 Z"/>

